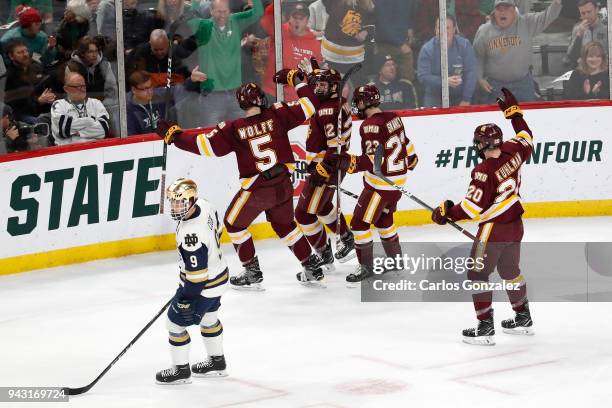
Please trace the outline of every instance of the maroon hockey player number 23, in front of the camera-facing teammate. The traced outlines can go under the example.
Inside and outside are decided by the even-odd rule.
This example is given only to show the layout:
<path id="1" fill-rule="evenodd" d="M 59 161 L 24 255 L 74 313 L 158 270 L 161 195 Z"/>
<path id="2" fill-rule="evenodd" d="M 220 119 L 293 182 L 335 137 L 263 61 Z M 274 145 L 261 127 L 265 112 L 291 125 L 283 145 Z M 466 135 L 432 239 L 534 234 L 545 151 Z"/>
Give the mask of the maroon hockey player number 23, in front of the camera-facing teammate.
<path id="1" fill-rule="evenodd" d="M 393 112 L 383 112 L 380 93 L 374 85 L 360 86 L 353 94 L 358 116 L 365 119 L 359 128 L 361 156 L 343 153 L 329 154 L 338 168 L 348 173 L 363 171 L 364 190 L 353 212 L 351 229 L 355 235 L 355 250 L 359 267 L 346 277 L 349 283 L 360 282 L 373 274 L 373 243 L 370 225 L 378 229 L 385 253 L 394 257 L 401 252 L 393 214 L 402 194 L 389 186 L 373 171 L 374 152 L 384 146 L 382 172 L 397 185 L 406 183 L 408 170 L 414 170 L 418 157 L 412 142 L 406 137 L 402 119 Z M 385 211 L 386 210 L 386 211 Z"/>

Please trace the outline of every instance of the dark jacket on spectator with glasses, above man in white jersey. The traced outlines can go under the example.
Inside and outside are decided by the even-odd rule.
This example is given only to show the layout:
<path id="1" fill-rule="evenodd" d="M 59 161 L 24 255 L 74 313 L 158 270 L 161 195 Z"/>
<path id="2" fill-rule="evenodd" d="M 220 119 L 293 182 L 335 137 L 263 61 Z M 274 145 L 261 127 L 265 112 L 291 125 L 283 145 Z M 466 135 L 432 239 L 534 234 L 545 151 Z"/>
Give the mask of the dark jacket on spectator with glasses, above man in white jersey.
<path id="1" fill-rule="evenodd" d="M 117 99 L 117 80 L 110 63 L 102 57 L 102 54 L 98 54 L 98 59 L 92 66 L 87 66 L 73 52 L 67 68 L 70 71 L 80 73 L 85 78 L 87 96 L 90 98 L 100 100 Z"/>

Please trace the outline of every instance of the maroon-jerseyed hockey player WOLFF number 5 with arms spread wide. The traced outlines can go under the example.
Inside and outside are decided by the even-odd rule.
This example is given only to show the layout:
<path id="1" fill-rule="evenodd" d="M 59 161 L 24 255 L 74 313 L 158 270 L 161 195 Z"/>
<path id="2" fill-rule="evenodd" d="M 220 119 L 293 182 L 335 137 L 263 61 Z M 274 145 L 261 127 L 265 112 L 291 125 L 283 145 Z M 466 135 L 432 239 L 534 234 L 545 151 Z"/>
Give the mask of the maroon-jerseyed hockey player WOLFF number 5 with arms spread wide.
<path id="1" fill-rule="evenodd" d="M 224 217 L 227 232 L 245 267 L 239 276 L 230 278 L 236 289 L 262 290 L 263 281 L 255 246 L 247 227 L 262 212 L 304 267 L 297 274 L 300 282 L 323 279 L 321 259 L 312 253 L 308 241 L 294 220 L 293 185 L 290 172 L 294 158 L 287 132 L 310 118 L 318 100 L 305 82 L 304 73 L 283 69 L 274 81 L 295 86 L 300 99 L 266 107 L 261 88 L 248 83 L 240 86 L 236 97 L 245 110 L 245 118 L 221 122 L 213 130 L 187 136 L 174 125 L 165 123 L 158 134 L 167 144 L 203 156 L 225 156 L 236 153 L 242 188 L 232 199 Z"/>

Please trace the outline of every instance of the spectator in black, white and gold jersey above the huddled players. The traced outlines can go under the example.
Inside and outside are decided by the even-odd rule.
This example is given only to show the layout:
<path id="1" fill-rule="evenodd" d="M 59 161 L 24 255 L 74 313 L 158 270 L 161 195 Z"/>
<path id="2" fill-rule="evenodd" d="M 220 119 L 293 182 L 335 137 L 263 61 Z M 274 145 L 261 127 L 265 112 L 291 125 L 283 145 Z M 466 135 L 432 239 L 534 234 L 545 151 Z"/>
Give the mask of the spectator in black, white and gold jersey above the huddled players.
<path id="1" fill-rule="evenodd" d="M 372 0 L 323 0 L 329 14 L 321 53 L 330 68 L 341 74 L 365 59 L 365 43 L 374 31 L 374 2 Z M 352 82 L 366 82 L 364 70 L 355 73 Z"/>

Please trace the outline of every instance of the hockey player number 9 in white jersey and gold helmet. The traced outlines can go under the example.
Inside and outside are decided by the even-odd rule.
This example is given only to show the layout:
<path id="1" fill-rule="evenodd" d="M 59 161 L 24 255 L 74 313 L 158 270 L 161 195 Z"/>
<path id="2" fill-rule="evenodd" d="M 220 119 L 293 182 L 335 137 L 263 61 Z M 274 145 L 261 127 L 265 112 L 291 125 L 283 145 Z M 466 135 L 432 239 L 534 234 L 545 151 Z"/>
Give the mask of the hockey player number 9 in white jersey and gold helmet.
<path id="1" fill-rule="evenodd" d="M 196 377 L 224 377 L 223 326 L 217 318 L 229 280 L 219 241 L 223 227 L 212 204 L 198 199 L 193 180 L 177 179 L 167 188 L 166 198 L 171 217 L 178 221 L 180 282 L 166 319 L 172 367 L 158 372 L 156 380 L 158 384 L 190 383 L 192 373 Z M 199 325 L 208 356 L 190 369 L 187 327 L 191 325 Z"/>

